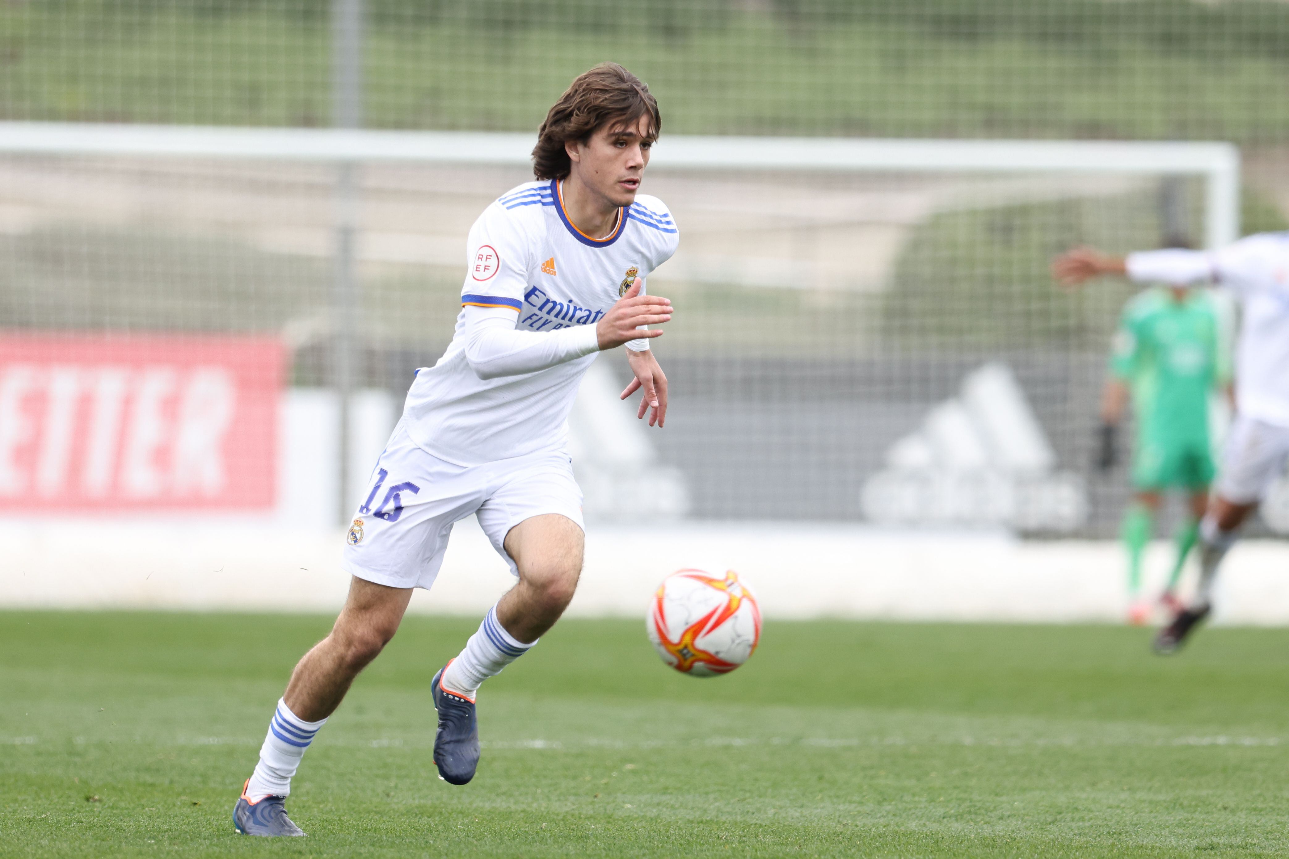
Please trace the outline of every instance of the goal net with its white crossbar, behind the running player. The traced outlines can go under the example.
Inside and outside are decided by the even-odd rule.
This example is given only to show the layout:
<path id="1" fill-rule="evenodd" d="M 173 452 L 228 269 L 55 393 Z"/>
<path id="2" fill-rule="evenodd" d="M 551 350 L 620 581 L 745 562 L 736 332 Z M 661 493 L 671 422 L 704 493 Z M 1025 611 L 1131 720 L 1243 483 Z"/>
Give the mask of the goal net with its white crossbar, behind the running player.
<path id="1" fill-rule="evenodd" d="M 512 134 L 8 124 L 0 148 L 0 495 L 27 509 L 338 522 L 451 337 L 469 225 L 531 175 Z M 588 516 L 1111 533 L 1125 475 L 1093 438 L 1133 287 L 1062 292 L 1051 259 L 1228 241 L 1237 180 L 1225 144 L 664 137 L 670 417 L 646 431 L 597 362 Z"/>

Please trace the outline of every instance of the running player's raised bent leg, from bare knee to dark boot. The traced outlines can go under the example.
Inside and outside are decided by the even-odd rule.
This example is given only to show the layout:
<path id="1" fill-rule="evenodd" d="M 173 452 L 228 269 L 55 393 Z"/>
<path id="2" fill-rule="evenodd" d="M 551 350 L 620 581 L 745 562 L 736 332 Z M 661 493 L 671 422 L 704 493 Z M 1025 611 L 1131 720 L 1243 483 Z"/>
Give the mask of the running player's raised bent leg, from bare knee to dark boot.
<path id="1" fill-rule="evenodd" d="M 438 733 L 434 764 L 445 782 L 465 784 L 480 760 L 474 698 L 480 684 L 527 653 L 572 600 L 585 540 L 577 523 L 547 514 L 525 519 L 505 536 L 519 582 L 487 613 L 465 649 L 434 675 Z"/>

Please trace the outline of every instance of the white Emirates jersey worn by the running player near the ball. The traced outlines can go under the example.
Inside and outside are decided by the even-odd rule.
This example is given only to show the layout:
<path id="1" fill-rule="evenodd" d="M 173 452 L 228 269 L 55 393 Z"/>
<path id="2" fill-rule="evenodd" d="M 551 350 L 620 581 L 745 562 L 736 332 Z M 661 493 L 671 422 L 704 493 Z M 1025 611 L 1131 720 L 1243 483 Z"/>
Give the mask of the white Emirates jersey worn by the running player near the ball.
<path id="1" fill-rule="evenodd" d="M 528 182 L 470 228 L 461 313 L 443 357 L 416 371 L 403 420 L 418 446 L 456 465 L 563 449 L 596 322 L 675 252 L 663 201 L 638 194 L 603 238 L 565 212 L 561 183 Z M 628 348 L 647 349 L 648 340 Z"/>

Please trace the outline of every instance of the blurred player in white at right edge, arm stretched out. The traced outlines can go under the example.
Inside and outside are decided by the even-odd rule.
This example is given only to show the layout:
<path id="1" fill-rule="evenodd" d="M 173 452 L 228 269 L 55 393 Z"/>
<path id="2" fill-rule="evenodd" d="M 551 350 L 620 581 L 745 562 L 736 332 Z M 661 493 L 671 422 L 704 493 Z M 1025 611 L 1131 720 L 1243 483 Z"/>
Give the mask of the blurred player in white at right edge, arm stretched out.
<path id="1" fill-rule="evenodd" d="M 1217 492 L 1200 522 L 1200 586 L 1155 637 L 1172 653 L 1212 609 L 1213 582 L 1267 487 L 1289 460 L 1289 233 L 1259 233 L 1216 251 L 1159 250 L 1106 256 L 1080 247 L 1056 259 L 1053 272 L 1067 285 L 1101 274 L 1133 281 L 1217 283 L 1243 305 L 1236 346 L 1236 417 L 1218 470 Z"/>

